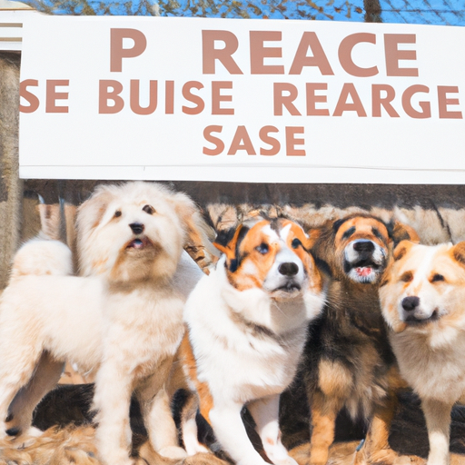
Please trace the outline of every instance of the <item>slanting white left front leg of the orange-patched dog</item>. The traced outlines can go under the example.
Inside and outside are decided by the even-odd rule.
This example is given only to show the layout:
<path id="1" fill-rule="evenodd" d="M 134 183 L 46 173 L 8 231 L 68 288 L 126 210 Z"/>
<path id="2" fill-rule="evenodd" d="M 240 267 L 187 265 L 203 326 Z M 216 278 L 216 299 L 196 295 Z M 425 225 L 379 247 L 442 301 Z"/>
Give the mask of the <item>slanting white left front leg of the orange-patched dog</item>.
<path id="1" fill-rule="evenodd" d="M 247 436 L 241 411 L 241 403 L 213 403 L 210 420 L 214 434 L 237 465 L 266 465 Z"/>

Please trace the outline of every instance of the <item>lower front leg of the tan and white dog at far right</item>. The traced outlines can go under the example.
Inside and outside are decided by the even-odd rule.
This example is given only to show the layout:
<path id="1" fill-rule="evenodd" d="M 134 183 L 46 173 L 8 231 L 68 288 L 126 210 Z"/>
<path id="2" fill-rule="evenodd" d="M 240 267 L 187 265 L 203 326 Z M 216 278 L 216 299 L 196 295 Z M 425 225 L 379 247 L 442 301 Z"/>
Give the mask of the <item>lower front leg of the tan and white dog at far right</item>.
<path id="1" fill-rule="evenodd" d="M 430 440 L 428 465 L 449 465 L 450 411 L 449 403 L 422 399 L 421 408 L 425 414 Z"/>

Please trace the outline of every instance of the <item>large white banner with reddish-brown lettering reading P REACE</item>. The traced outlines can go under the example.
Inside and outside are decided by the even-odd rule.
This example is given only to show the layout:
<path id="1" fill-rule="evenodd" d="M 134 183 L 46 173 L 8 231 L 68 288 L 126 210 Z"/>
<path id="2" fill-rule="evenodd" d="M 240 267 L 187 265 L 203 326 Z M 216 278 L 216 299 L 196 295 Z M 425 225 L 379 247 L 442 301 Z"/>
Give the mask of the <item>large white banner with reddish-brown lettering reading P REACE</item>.
<path id="1" fill-rule="evenodd" d="M 465 183 L 465 29 L 34 15 L 24 178 Z"/>

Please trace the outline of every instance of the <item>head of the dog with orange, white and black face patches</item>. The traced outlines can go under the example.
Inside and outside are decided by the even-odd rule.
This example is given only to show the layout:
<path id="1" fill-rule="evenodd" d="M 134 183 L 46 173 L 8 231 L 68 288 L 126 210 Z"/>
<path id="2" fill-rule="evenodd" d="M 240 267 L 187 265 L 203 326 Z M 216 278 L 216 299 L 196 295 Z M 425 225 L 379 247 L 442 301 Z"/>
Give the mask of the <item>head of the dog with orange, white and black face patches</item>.
<path id="1" fill-rule="evenodd" d="M 289 220 L 256 220 L 219 234 L 214 245 L 225 254 L 229 282 L 238 290 L 261 288 L 287 300 L 322 291 L 322 279 L 308 252 L 310 238 Z"/>

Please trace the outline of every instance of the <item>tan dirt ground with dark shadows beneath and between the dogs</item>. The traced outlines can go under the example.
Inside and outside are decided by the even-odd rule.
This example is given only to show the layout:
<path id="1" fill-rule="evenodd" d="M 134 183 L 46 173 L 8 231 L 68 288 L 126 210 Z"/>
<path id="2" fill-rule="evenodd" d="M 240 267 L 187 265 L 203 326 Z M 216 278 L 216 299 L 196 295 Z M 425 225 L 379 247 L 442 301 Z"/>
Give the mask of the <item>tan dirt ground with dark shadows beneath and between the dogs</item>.
<path id="1" fill-rule="evenodd" d="M 89 406 L 94 387 L 92 384 L 61 385 L 50 392 L 35 412 L 35 426 L 45 430 L 39 438 L 28 437 L 0 441 L 0 465 L 100 465 L 94 446 L 94 426 Z M 395 465 L 423 465 L 428 455 L 428 437 L 420 401 L 411 393 L 400 396 L 400 409 L 392 423 L 390 443 L 400 455 Z M 183 403 L 182 395 L 174 399 L 176 406 Z M 298 392 L 282 398 L 282 440 L 291 450 L 299 465 L 309 458 L 308 407 Z M 179 420 L 179 418 L 177 418 Z M 252 442 L 259 449 L 250 415 L 243 412 L 243 420 Z M 197 454 L 180 462 L 160 457 L 146 442 L 146 431 L 135 402 L 131 408 L 131 426 L 134 432 L 134 465 L 228 465 L 219 450 L 212 431 L 200 423 L 201 437 L 213 454 Z M 353 425 L 341 416 L 336 428 L 336 442 L 331 447 L 328 465 L 353 465 L 355 450 L 364 436 L 363 426 Z M 465 465 L 465 409 L 456 408 L 451 415 L 450 465 Z M 411 455 L 409 455 L 411 454 Z M 223 459 L 223 460 L 222 460 Z M 367 464 L 368 465 L 368 464 Z"/>

